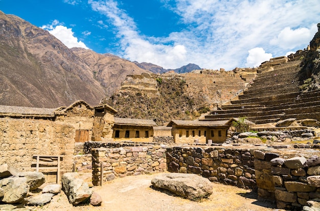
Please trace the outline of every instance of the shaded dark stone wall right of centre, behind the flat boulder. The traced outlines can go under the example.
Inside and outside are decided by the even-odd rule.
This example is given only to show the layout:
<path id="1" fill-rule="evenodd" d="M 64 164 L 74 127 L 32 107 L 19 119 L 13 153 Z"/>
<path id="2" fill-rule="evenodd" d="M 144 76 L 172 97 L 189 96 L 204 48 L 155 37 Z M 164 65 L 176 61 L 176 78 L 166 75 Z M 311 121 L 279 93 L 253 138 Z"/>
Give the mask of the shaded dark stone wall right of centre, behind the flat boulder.
<path id="1" fill-rule="evenodd" d="M 253 150 L 225 148 L 167 148 L 169 172 L 199 174 L 223 184 L 256 186 Z"/>

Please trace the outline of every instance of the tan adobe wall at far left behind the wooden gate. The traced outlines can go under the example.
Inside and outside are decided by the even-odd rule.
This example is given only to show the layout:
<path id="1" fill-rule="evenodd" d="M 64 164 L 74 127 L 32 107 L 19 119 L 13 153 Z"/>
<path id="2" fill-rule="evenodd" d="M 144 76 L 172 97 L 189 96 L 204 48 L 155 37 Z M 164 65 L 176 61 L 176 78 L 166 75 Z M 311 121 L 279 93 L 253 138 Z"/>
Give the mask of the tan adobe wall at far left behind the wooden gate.
<path id="1" fill-rule="evenodd" d="M 0 164 L 16 167 L 19 171 L 31 168 L 34 154 L 64 155 L 61 170 L 73 166 L 75 128 L 48 120 L 0 118 Z M 42 170 L 41 170 L 42 171 Z"/>

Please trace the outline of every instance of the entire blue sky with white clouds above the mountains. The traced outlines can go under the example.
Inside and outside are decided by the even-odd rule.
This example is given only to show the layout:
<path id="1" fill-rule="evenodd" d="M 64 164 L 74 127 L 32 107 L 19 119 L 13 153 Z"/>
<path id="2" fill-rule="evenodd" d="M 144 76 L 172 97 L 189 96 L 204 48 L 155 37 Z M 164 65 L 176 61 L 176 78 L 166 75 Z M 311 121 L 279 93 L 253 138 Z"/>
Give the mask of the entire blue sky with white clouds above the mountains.
<path id="1" fill-rule="evenodd" d="M 68 48 L 227 71 L 307 48 L 319 0 L 0 0 Z"/>

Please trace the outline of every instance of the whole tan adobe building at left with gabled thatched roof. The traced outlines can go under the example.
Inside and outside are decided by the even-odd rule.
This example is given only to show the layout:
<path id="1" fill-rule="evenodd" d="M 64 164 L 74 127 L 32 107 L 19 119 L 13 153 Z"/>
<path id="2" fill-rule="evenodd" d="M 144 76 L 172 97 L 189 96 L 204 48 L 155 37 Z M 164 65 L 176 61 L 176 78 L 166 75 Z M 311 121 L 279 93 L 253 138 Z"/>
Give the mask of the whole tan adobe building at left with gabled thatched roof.
<path id="1" fill-rule="evenodd" d="M 56 109 L 1 105 L 0 165 L 32 171 L 34 155 L 58 155 L 61 172 L 71 171 L 75 143 L 111 139 L 116 112 L 84 101 Z"/>

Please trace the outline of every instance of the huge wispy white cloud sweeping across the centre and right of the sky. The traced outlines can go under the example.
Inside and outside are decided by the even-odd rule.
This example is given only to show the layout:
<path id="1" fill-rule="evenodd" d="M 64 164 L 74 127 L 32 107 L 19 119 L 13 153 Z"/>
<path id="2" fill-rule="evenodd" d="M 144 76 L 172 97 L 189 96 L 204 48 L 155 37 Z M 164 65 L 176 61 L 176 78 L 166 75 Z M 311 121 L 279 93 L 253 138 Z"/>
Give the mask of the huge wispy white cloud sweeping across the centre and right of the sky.
<path id="1" fill-rule="evenodd" d="M 314 26 L 320 19 L 320 2 L 317 0 L 310 0 L 308 4 L 302 0 L 176 0 L 174 4 L 169 0 L 159 1 L 180 17 L 178 22 L 185 24 L 185 29 L 167 37 L 147 37 L 120 8 L 117 0 L 89 0 L 88 3 L 117 29 L 121 47 L 117 52 L 119 56 L 164 68 L 177 68 L 188 63 L 227 70 L 245 64 L 259 65 L 259 62 L 268 60 L 270 54 L 284 56 L 288 48 L 291 51 L 299 50 L 294 48 L 302 45 L 306 48 L 315 32 L 312 27 L 305 28 L 309 29 L 309 35 L 303 38 L 307 31 L 298 29 Z M 286 27 L 289 27 L 287 32 L 290 35 L 301 39 L 297 41 L 282 35 L 281 31 Z M 275 38 L 275 35 L 278 36 Z M 253 50 L 256 46 L 263 51 Z M 248 56 L 249 50 L 252 53 Z"/>

